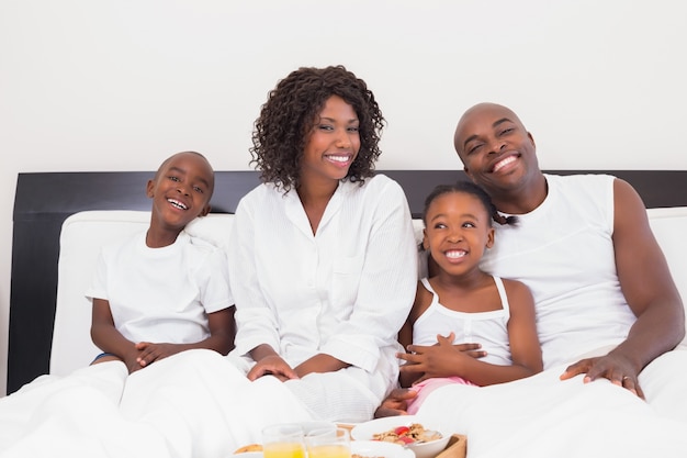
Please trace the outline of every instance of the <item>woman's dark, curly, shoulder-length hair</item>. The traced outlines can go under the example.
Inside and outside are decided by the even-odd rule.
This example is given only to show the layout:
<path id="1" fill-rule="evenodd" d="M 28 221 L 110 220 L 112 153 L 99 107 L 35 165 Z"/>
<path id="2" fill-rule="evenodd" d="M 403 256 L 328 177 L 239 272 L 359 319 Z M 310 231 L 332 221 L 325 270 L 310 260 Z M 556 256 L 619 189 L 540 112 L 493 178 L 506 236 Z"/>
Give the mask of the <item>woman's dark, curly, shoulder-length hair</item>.
<path id="1" fill-rule="evenodd" d="M 362 182 L 374 175 L 385 120 L 372 91 L 344 66 L 302 67 L 270 91 L 255 122 L 250 164 L 260 170 L 262 182 L 272 182 L 284 192 L 299 187 L 305 145 L 331 96 L 349 103 L 360 123 L 360 150 L 345 179 Z"/>

